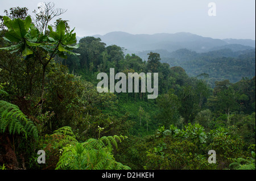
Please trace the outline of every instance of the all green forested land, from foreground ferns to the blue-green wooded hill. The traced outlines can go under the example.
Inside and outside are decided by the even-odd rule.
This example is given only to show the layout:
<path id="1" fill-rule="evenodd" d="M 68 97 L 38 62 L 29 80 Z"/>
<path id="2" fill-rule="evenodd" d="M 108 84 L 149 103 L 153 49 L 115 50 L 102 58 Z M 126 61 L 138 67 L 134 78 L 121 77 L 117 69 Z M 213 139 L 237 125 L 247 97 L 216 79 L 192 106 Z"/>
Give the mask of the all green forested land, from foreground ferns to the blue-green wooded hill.
<path id="1" fill-rule="evenodd" d="M 20 7 L 1 16 L 0 168 L 255 170 L 255 49 L 144 61 L 100 38 L 77 41 L 68 21 L 35 18 Z M 139 92 L 98 92 L 110 68 L 158 73 L 158 98 L 141 79 Z"/>

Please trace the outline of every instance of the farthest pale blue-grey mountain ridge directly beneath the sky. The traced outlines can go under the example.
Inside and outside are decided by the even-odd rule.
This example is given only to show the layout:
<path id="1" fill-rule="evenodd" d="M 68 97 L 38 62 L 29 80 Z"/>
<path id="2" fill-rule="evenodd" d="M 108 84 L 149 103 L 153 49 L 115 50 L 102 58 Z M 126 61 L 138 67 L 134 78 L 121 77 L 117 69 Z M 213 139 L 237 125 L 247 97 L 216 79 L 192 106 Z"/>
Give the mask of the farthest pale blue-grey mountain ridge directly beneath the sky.
<path id="1" fill-rule="evenodd" d="M 118 45 L 127 49 L 127 53 L 137 53 L 149 50 L 167 50 L 173 52 L 178 49 L 189 49 L 195 52 L 208 52 L 229 48 L 232 50 L 245 50 L 255 48 L 255 40 L 242 39 L 212 39 L 187 32 L 157 33 L 154 35 L 132 35 L 126 32 L 110 32 L 100 37 L 107 45 Z M 236 44 L 236 45 L 233 45 Z"/>

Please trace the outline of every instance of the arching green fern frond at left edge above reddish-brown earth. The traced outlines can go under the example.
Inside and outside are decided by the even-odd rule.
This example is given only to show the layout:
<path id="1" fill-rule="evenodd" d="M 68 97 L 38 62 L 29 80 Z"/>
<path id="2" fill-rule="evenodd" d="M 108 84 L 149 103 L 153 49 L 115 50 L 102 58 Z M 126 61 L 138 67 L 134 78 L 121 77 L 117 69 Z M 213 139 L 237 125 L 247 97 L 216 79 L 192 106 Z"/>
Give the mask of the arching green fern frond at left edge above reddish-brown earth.
<path id="1" fill-rule="evenodd" d="M 27 138 L 27 134 L 30 133 L 34 138 L 38 138 L 35 125 L 27 119 L 19 107 L 0 100 L 0 132 L 4 133 L 6 129 L 10 134 L 23 133 Z"/>

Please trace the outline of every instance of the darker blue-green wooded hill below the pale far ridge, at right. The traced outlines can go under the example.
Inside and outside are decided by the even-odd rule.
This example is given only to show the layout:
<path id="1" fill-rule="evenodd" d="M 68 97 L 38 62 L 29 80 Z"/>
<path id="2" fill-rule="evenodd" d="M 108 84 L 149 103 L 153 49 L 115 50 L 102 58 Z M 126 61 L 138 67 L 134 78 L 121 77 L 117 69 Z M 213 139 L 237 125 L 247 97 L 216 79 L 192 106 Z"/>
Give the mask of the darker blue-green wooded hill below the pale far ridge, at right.
<path id="1" fill-rule="evenodd" d="M 243 77 L 255 76 L 255 49 L 233 52 L 230 49 L 196 53 L 188 49 L 176 50 L 169 57 L 161 57 L 162 62 L 172 66 L 181 66 L 189 76 L 207 73 L 210 85 L 215 81 L 229 79 L 238 82 Z"/>

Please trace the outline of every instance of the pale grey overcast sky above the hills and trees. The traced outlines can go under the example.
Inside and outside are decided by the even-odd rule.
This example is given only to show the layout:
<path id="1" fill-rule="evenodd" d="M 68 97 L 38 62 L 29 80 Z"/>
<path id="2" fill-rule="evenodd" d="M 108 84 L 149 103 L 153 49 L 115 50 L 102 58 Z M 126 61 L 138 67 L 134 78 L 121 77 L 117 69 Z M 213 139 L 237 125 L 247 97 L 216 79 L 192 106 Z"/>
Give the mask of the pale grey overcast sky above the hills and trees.
<path id="1" fill-rule="evenodd" d="M 30 15 L 38 0 L 0 0 L 0 14 L 10 7 L 27 7 Z M 51 0 L 67 9 L 77 36 L 105 35 L 113 31 L 131 34 L 190 32 L 217 39 L 255 40 L 255 0 Z M 209 16 L 208 3 L 216 4 Z"/>

